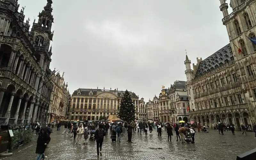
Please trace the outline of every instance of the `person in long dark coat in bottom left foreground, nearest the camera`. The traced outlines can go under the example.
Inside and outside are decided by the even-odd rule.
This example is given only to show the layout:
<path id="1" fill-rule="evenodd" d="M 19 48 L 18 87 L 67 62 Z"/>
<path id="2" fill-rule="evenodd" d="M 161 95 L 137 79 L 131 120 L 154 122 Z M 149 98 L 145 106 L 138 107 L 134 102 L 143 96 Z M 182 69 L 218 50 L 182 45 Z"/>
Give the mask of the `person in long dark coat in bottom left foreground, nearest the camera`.
<path id="1" fill-rule="evenodd" d="M 44 151 L 47 146 L 47 144 L 50 142 L 51 138 L 49 133 L 47 132 L 47 128 L 43 127 L 41 131 L 39 132 L 39 136 L 36 141 L 36 154 L 37 154 L 37 159 L 41 160 L 46 158 L 44 156 Z"/>

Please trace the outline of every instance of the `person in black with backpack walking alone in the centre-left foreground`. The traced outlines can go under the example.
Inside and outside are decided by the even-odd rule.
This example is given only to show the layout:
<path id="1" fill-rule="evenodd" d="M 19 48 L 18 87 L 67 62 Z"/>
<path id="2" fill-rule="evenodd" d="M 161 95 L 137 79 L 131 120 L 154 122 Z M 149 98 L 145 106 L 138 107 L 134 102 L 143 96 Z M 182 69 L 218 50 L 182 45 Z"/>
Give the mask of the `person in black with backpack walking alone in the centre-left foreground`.
<path id="1" fill-rule="evenodd" d="M 99 124 L 99 128 L 95 131 L 94 137 L 97 142 L 97 156 L 99 157 L 99 148 L 100 148 L 100 156 L 102 156 L 102 142 L 104 136 L 106 136 L 105 130 L 102 129 L 103 125 Z"/>

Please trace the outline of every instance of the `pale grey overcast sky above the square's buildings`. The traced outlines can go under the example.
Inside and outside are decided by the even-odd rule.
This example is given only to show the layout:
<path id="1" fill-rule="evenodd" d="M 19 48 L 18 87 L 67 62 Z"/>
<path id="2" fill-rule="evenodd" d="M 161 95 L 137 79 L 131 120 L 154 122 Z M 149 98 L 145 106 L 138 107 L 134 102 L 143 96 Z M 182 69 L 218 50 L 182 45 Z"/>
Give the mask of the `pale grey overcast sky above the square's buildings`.
<path id="1" fill-rule="evenodd" d="M 31 27 L 46 2 L 19 0 Z M 229 43 L 219 6 L 219 0 L 53 0 L 50 68 L 66 72 L 71 94 L 98 86 L 152 100 L 162 85 L 186 81 L 185 49 L 196 63 Z"/>

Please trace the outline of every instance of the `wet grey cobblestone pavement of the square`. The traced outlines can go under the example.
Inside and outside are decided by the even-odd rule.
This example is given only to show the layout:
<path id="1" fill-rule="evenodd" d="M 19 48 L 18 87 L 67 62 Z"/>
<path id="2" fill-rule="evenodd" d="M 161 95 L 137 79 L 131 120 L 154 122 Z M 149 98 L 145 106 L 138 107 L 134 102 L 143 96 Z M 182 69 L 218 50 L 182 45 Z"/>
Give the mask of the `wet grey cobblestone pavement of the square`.
<path id="1" fill-rule="evenodd" d="M 63 130 L 64 128 L 62 128 Z M 51 134 L 50 148 L 47 148 L 45 155 L 47 160 L 96 160 L 96 142 L 89 141 L 87 145 L 74 144 L 73 138 L 63 136 L 61 131 L 54 131 Z M 104 138 L 102 146 L 103 156 L 99 159 L 105 160 L 157 160 L 157 159 L 184 159 L 184 160 L 231 160 L 236 159 L 236 155 L 256 148 L 256 138 L 254 132 L 242 135 L 242 132 L 224 132 L 219 135 L 218 131 L 210 130 L 209 133 L 195 134 L 195 144 L 181 144 L 176 141 L 175 132 L 172 142 L 167 141 L 167 134 L 162 132 L 162 138 L 158 138 L 156 129 L 148 136 L 144 134 L 132 135 L 133 143 L 127 143 L 127 135 L 121 139 L 121 143 L 112 142 L 110 135 Z M 84 136 L 83 136 L 84 137 Z M 13 151 L 13 156 L 0 160 L 35 160 L 36 159 L 36 136 L 32 142 L 21 146 Z M 82 142 L 82 141 L 81 141 Z"/>

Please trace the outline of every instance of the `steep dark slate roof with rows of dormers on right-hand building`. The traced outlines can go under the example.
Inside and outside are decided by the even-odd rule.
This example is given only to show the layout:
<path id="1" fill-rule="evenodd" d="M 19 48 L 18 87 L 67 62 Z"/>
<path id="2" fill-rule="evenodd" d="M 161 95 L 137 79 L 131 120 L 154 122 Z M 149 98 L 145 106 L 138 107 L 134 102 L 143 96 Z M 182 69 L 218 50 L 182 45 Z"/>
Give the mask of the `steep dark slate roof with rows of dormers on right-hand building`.
<path id="1" fill-rule="evenodd" d="M 211 56 L 202 60 L 198 65 L 195 77 L 201 76 L 212 69 L 218 68 L 231 61 L 234 61 L 234 57 L 229 43 L 217 52 L 213 53 Z"/>

